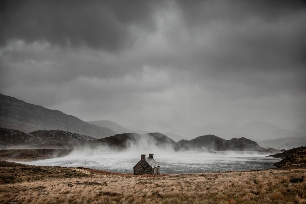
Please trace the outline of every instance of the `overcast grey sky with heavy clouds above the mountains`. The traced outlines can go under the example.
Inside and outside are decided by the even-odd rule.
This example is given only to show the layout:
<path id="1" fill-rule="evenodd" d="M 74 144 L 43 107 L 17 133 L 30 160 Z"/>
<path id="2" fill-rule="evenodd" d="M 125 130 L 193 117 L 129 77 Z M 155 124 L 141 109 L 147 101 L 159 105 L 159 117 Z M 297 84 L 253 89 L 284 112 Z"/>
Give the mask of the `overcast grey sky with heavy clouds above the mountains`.
<path id="1" fill-rule="evenodd" d="M 302 1 L 1 1 L 0 92 L 188 135 L 267 121 L 306 131 Z"/>

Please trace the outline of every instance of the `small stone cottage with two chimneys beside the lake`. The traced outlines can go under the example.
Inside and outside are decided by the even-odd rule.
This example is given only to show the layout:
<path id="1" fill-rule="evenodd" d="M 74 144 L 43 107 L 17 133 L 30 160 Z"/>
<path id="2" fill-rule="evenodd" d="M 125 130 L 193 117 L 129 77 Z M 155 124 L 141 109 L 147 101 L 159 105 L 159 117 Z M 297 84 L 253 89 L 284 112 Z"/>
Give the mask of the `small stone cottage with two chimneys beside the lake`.
<path id="1" fill-rule="evenodd" d="M 160 174 L 160 165 L 153 159 L 153 154 L 149 154 L 149 157 L 146 158 L 145 154 L 140 155 L 140 161 L 134 166 L 134 175 L 142 174 L 151 174 L 158 175 Z"/>

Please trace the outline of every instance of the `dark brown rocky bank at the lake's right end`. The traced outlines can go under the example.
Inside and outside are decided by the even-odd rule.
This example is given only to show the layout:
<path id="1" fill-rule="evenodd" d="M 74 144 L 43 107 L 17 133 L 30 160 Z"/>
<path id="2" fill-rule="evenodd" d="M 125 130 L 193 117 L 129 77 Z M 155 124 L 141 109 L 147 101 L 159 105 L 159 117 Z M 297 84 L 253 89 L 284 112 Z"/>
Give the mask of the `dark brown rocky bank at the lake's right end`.
<path id="1" fill-rule="evenodd" d="M 305 168 L 306 167 L 306 147 L 297 147 L 282 153 L 273 154 L 269 157 L 282 158 L 274 166 L 278 168 Z"/>

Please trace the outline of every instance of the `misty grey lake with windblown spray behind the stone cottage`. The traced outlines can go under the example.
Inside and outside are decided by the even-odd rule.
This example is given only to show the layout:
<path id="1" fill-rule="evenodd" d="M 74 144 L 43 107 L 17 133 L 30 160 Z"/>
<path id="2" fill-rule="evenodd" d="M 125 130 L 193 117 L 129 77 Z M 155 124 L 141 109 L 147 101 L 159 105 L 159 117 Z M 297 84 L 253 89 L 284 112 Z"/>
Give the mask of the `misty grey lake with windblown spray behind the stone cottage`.
<path id="1" fill-rule="evenodd" d="M 133 167 L 140 161 L 140 154 L 154 154 L 161 165 L 162 174 L 200 173 L 218 171 L 240 171 L 274 168 L 280 159 L 266 157 L 267 153 L 241 151 L 175 152 L 171 149 L 146 149 L 138 147 L 126 151 L 110 151 L 108 148 L 75 149 L 69 155 L 39 161 L 22 162 L 29 165 L 64 167 L 88 167 L 110 172 L 133 173 Z"/>

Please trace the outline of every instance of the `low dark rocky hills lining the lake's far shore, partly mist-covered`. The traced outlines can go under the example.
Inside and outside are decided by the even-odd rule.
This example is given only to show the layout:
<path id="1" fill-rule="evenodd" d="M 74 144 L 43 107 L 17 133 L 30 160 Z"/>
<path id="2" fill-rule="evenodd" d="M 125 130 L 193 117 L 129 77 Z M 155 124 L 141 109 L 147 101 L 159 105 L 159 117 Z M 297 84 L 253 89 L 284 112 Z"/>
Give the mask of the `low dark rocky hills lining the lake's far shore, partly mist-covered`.
<path id="1" fill-rule="evenodd" d="M 125 150 L 127 148 L 161 148 L 176 151 L 185 150 L 237 150 L 237 151 L 265 151 L 266 149 L 249 139 L 239 138 L 225 140 L 215 135 L 203 135 L 192 140 L 180 140 L 175 142 L 166 135 L 158 132 L 138 134 L 122 133 L 102 139 L 95 139 L 86 135 L 79 135 L 62 130 L 38 130 L 30 133 L 0 128 L 0 147 L 109 147 L 113 150 Z"/>

